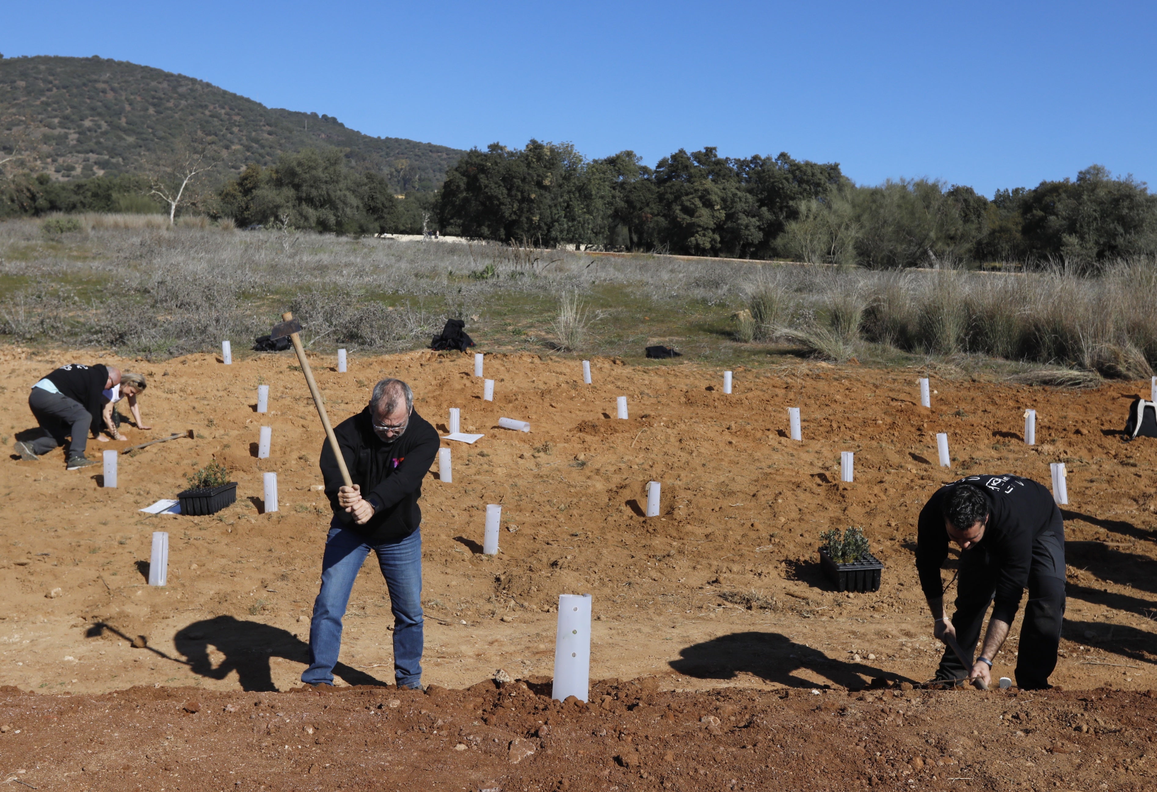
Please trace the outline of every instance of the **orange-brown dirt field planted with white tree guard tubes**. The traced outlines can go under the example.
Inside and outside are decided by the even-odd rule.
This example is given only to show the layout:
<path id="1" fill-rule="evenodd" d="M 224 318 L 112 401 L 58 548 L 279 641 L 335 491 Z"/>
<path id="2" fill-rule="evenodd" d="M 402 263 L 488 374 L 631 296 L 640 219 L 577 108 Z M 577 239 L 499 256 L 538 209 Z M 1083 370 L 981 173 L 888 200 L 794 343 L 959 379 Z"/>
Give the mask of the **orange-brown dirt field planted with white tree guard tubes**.
<path id="1" fill-rule="evenodd" d="M 35 425 L 27 388 L 69 361 L 0 352 L 9 448 Z M 149 377 L 141 406 L 154 428 L 128 427 L 127 442 L 90 441 L 91 454 L 170 432 L 193 430 L 196 439 L 124 456 L 118 489 L 100 486 L 100 468 L 66 471 L 62 452 L 0 464 L 0 684 L 72 694 L 0 697 L 5 778 L 19 768 L 20 783 L 39 789 L 846 789 L 874 778 L 1151 789 L 1134 773 L 1148 772 L 1140 757 L 1155 726 L 1151 702 L 1136 691 L 1157 687 L 1157 443 L 1119 435 L 1148 383 L 1062 391 L 951 368 L 801 362 L 737 369 L 727 396 L 722 373 L 699 365 L 594 360 L 595 384 L 583 386 L 575 360 L 487 355 L 492 404 L 467 355 L 351 358 L 346 374 L 314 358 L 336 421 L 395 375 L 443 432 L 447 409 L 459 406 L 463 430 L 486 434 L 452 443 L 454 483 L 440 482 L 435 465 L 422 496 L 423 681 L 481 688 L 427 698 L 339 689 L 318 699 L 273 692 L 295 688 L 304 667 L 327 523 L 311 489 L 324 435 L 292 353 L 231 366 L 212 355 L 98 361 Z M 933 379 L 931 410 L 918 406 L 921 375 Z M 256 412 L 259 383 L 271 388 L 267 416 Z M 628 420 L 610 417 L 620 395 Z M 788 406 L 803 410 L 802 443 L 786 438 Z M 1026 408 L 1038 412 L 1036 447 L 1020 438 Z M 529 420 L 532 432 L 499 430 L 500 416 Z M 273 427 L 273 450 L 259 461 L 263 424 Z M 949 434 L 951 470 L 935 464 L 937 432 Z M 856 453 L 853 484 L 838 483 L 842 450 Z M 212 457 L 238 482 L 233 507 L 206 518 L 138 511 L 175 497 Z M 935 487 L 977 472 L 1047 483 L 1056 461 L 1069 471 L 1069 603 L 1053 682 L 1066 691 L 849 697 L 872 679 L 923 681 L 938 660 L 913 565 L 915 516 Z M 266 470 L 279 477 L 280 511 L 271 514 L 260 503 Z M 662 516 L 646 519 L 651 479 L 663 484 Z M 488 503 L 503 504 L 495 558 L 480 553 Z M 878 593 L 838 594 L 819 572 L 820 531 L 849 525 L 864 528 L 886 565 Z M 146 585 L 154 530 L 170 533 L 165 588 Z M 346 619 L 344 684 L 392 679 L 384 593 L 367 565 Z M 560 593 L 594 595 L 592 679 L 638 680 L 600 683 L 590 712 L 531 695 L 548 695 L 541 683 Z M 1012 676 L 1018 626 L 997 675 Z M 132 647 L 135 636 L 148 646 Z M 504 688 L 510 707 L 495 709 L 487 680 L 500 668 L 533 690 Z M 1095 688 L 1104 689 L 1073 692 Z M 182 709 L 191 699 L 196 714 Z M 718 734 L 699 739 L 712 726 Z M 1081 726 L 1091 731 L 1074 731 Z M 304 740 L 307 727 L 319 734 Z M 285 748 L 288 736 L 272 736 L 279 729 L 296 742 Z M 511 767 L 515 740 L 536 753 Z M 1113 772 L 1096 763 L 1118 760 Z M 382 773 L 390 762 L 408 775 Z M 1010 764 L 997 769 L 1002 762 Z M 65 776 L 74 772 L 83 784 Z"/>

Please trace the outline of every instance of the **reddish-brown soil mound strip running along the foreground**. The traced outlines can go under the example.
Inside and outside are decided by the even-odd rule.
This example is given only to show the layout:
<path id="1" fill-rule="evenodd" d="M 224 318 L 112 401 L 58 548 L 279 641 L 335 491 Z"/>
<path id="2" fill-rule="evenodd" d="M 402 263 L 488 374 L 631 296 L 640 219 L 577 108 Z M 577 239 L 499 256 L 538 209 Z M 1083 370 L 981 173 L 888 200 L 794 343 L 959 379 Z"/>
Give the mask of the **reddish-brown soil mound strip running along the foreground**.
<path id="1" fill-rule="evenodd" d="M 908 687 L 908 685 L 905 685 Z M 659 689 L 0 692 L 42 790 L 1151 790 L 1150 694 Z M 1145 779 L 1149 780 L 1145 780 Z"/>

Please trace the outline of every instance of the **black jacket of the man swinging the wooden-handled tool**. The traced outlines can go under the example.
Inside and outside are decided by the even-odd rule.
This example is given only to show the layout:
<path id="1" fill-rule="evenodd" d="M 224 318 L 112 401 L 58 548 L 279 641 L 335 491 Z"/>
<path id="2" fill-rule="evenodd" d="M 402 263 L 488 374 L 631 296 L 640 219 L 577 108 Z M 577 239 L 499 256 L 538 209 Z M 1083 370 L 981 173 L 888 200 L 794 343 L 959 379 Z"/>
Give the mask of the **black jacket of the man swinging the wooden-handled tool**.
<path id="1" fill-rule="evenodd" d="M 403 435 L 388 446 L 374 433 L 367 406 L 338 424 L 333 433 L 349 469 L 349 478 L 361 485 L 362 497 L 376 509 L 369 522 L 359 526 L 353 515 L 338 504 L 338 487 L 344 482 L 338 461 L 326 441 L 322 446 L 319 464 L 334 516 L 364 535 L 370 544 L 397 542 L 418 530 L 422 521 L 418 499 L 422 496 L 422 478 L 437 455 L 437 431 L 415 410 Z"/>

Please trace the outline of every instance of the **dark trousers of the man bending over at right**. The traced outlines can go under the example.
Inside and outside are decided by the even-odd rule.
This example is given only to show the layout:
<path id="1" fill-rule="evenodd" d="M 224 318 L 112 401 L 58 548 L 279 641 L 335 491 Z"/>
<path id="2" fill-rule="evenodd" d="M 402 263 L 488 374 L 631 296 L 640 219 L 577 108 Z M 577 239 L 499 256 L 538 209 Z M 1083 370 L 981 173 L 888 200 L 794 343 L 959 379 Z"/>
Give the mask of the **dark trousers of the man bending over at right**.
<path id="1" fill-rule="evenodd" d="M 1048 677 L 1056 668 L 1056 650 L 1061 644 L 1061 622 L 1064 619 L 1064 523 L 1060 509 L 1056 506 L 1053 509 L 1053 530 L 1041 534 L 1032 543 L 1029 602 L 1024 607 L 1016 665 L 1016 683 L 1024 690 L 1048 687 Z M 956 628 L 957 643 L 966 655 L 975 653 L 985 614 L 996 593 L 998 572 L 1000 567 L 980 548 L 960 553 L 952 626 Z M 971 668 L 960 663 L 952 650 L 945 648 L 939 668 L 936 669 L 936 679 L 959 680 L 967 677 L 971 672 Z M 994 675 L 995 673 L 994 669 Z"/>

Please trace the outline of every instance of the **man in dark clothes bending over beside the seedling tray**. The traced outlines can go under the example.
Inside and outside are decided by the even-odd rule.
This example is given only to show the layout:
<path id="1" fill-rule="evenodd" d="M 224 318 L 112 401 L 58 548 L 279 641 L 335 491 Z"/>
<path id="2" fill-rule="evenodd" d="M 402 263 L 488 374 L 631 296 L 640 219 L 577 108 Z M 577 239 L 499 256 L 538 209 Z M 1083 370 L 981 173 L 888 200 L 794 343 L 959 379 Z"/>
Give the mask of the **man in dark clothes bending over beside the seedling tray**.
<path id="1" fill-rule="evenodd" d="M 949 540 L 960 547 L 956 613 L 944 615 L 941 564 Z M 1029 602 L 1020 626 L 1016 681 L 1027 690 L 1048 688 L 1064 616 L 1064 521 L 1049 491 L 1020 476 L 968 476 L 942 486 L 920 512 L 916 570 L 936 638 L 957 639 L 971 657 L 980 625 L 994 601 L 980 657 L 965 668 L 951 648 L 944 651 L 937 681 L 981 679 L 1008 637 L 1024 588 Z"/>

